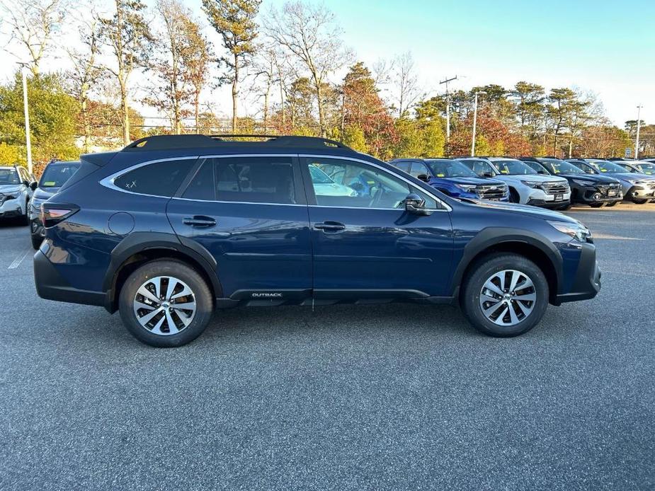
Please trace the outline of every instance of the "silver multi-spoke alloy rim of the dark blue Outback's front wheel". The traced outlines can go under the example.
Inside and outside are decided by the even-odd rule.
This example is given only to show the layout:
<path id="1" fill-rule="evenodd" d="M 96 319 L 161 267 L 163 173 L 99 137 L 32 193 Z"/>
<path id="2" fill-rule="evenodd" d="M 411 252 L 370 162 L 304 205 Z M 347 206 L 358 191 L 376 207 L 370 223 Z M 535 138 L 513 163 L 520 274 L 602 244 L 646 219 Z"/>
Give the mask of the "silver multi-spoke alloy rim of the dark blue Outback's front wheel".
<path id="1" fill-rule="evenodd" d="M 537 291 L 532 279 L 517 270 L 503 270 L 491 275 L 480 291 L 483 315 L 496 325 L 516 325 L 532 313 Z"/>

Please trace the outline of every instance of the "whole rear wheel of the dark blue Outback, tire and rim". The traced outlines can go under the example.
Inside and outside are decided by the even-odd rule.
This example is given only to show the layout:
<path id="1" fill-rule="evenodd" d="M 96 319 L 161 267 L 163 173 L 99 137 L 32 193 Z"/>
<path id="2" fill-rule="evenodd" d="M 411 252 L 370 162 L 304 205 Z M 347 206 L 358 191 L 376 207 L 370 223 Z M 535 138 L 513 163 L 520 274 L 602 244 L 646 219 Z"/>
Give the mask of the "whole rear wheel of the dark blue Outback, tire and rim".
<path id="1" fill-rule="evenodd" d="M 177 347 L 203 333 L 213 302 L 198 272 L 181 261 L 155 260 L 127 278 L 118 308 L 125 327 L 139 341 L 154 347 Z"/>

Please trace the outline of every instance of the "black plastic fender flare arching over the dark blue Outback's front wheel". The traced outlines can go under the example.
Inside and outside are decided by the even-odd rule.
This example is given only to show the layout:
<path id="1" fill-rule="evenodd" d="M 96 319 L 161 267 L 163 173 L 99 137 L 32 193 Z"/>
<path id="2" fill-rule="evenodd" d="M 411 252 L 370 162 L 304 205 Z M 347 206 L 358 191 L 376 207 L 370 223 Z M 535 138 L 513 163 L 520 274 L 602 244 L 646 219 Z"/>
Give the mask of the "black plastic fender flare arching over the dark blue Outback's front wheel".
<path id="1" fill-rule="evenodd" d="M 559 250 L 555 245 L 539 233 L 535 233 L 525 229 L 513 229 L 511 227 L 487 227 L 477 233 L 474 238 L 465 245 L 464 253 L 459 264 L 455 268 L 455 273 L 452 276 L 452 283 L 450 291 L 456 295 L 459 289 L 464 272 L 471 264 L 474 258 L 482 253 L 484 250 L 494 247 L 494 245 L 502 245 L 503 243 L 524 243 L 537 248 L 551 262 L 555 277 L 557 279 L 557 292 L 562 288 L 564 278 L 564 260 Z"/>

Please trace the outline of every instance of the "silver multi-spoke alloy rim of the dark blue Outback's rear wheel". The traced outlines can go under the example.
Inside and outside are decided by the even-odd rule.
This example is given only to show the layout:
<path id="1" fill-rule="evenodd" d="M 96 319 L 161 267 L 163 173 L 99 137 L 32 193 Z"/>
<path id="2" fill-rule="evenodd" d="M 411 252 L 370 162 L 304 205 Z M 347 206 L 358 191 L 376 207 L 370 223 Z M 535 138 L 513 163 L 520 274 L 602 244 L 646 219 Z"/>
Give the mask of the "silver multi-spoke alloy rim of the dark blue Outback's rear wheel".
<path id="1" fill-rule="evenodd" d="M 175 277 L 158 276 L 147 279 L 137 289 L 133 309 L 144 329 L 169 336 L 188 327 L 197 306 L 188 284 Z"/>

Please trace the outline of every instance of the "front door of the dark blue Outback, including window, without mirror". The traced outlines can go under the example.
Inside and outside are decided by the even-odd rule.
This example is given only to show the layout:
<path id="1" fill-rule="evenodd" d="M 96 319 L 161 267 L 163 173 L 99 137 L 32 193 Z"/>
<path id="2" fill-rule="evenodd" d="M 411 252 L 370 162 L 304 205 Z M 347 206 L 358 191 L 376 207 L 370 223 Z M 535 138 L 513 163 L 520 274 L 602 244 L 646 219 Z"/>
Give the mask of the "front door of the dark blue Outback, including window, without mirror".
<path id="1" fill-rule="evenodd" d="M 452 226 L 445 207 L 408 180 L 372 163 L 301 156 L 314 250 L 317 298 L 442 296 L 452 267 Z M 429 216 L 408 214 L 421 195 Z"/>

